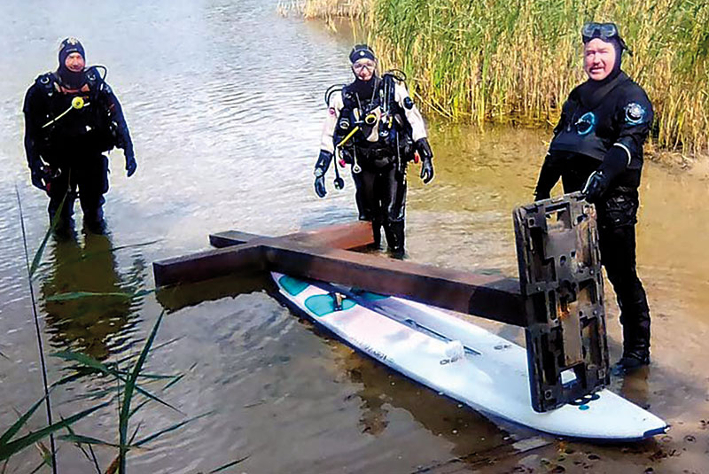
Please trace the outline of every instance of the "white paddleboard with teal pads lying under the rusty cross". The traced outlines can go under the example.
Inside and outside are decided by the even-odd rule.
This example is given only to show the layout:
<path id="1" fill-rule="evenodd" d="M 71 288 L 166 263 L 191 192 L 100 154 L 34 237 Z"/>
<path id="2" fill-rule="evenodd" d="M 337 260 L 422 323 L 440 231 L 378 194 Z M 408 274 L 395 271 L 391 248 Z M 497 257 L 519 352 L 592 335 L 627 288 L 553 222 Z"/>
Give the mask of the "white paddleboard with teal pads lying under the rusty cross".
<path id="1" fill-rule="evenodd" d="M 569 438 L 629 441 L 667 430 L 658 416 L 607 389 L 537 413 L 523 347 L 408 299 L 350 294 L 341 309 L 334 310 L 330 291 L 292 276 L 271 276 L 284 298 L 316 324 L 406 377 L 482 413 Z"/>

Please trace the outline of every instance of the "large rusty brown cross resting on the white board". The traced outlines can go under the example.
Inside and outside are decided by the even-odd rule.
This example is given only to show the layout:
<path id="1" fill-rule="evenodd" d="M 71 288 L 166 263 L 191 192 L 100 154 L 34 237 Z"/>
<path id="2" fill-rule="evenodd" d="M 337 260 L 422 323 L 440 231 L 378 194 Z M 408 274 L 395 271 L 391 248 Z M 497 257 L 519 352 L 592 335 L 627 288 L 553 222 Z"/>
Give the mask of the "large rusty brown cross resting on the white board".
<path id="1" fill-rule="evenodd" d="M 185 284 L 238 272 L 273 270 L 526 325 L 518 280 L 345 250 L 371 244 L 371 236 L 370 223 L 363 221 L 282 237 L 222 232 L 210 236 L 212 245 L 222 248 L 154 262 L 155 283 Z"/>

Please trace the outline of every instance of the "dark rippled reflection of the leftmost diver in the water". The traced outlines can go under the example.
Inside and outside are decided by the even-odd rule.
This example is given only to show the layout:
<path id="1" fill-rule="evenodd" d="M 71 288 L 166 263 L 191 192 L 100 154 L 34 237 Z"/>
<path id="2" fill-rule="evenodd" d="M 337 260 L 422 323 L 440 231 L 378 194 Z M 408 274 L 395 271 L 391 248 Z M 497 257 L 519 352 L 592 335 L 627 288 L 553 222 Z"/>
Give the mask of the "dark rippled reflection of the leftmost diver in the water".
<path id="1" fill-rule="evenodd" d="M 113 244 L 108 235 L 87 234 L 83 246 L 74 230 L 57 235 L 51 251 L 51 271 L 43 280 L 43 310 L 47 314 L 51 343 L 103 360 L 116 346 L 126 344 L 136 323 L 136 297 L 80 296 L 66 300 L 51 297 L 77 292 L 134 293 L 144 286 L 145 265 L 136 259 L 130 274 L 116 270 Z"/>

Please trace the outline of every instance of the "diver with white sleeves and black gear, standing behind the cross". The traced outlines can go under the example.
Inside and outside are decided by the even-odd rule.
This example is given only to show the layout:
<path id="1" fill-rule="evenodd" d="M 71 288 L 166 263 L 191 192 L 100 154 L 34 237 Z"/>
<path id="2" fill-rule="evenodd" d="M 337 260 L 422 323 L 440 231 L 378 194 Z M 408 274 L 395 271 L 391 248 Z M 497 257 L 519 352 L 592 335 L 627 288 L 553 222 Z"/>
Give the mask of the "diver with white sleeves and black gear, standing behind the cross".
<path id="1" fill-rule="evenodd" d="M 377 58 L 366 44 L 349 55 L 354 82 L 331 91 L 315 167 L 316 194 L 326 194 L 324 175 L 335 152 L 352 167 L 359 218 L 372 222 L 375 245 L 384 227 L 394 257 L 404 254 L 406 167 L 415 153 L 422 161 L 421 179 L 433 179 L 433 153 L 421 113 L 397 73 L 377 74 Z M 335 166 L 337 171 L 337 164 Z M 339 176 L 338 176 L 339 178 Z M 341 187 L 341 179 L 336 179 Z"/>

